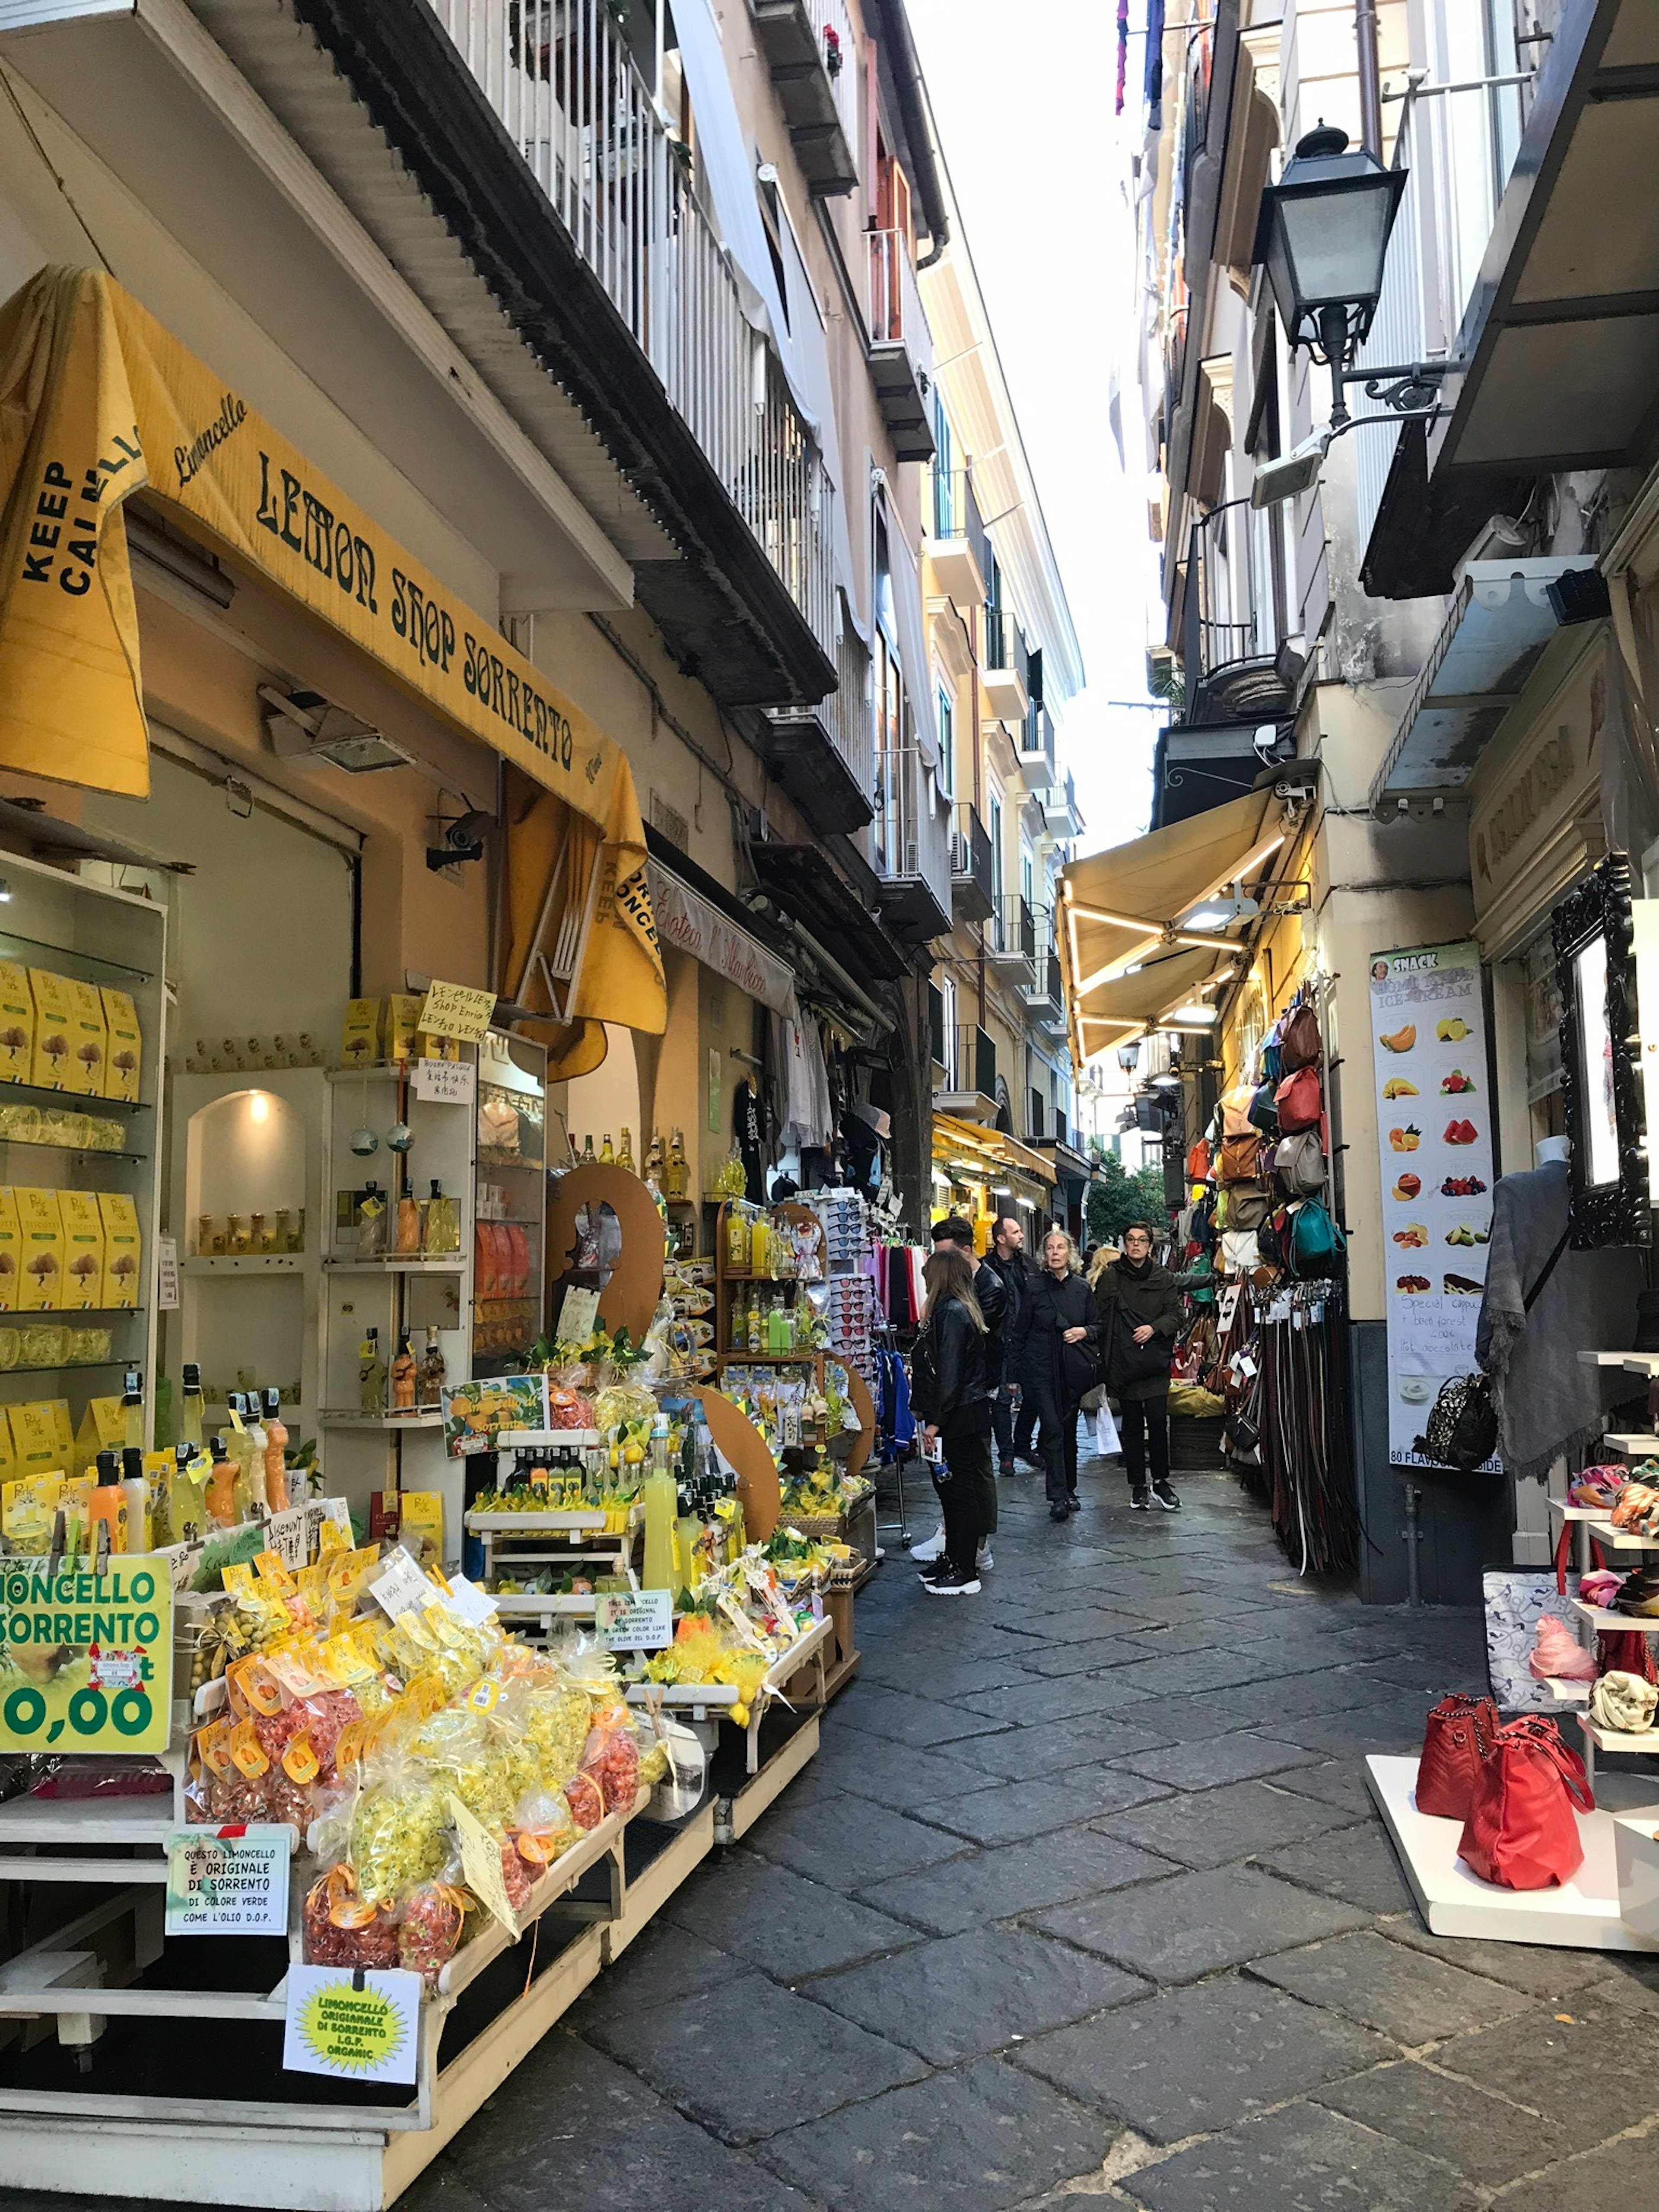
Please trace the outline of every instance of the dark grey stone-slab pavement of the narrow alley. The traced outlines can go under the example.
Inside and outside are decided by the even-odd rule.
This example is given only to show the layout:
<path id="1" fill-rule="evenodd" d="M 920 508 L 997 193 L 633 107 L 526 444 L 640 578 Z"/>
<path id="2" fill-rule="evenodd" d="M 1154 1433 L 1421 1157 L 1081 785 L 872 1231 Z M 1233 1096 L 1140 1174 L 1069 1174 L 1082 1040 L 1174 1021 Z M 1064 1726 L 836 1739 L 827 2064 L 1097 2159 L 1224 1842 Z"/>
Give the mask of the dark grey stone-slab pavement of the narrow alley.
<path id="1" fill-rule="evenodd" d="M 1369 1807 L 1473 1615 L 1307 1590 L 1217 1475 L 1082 1486 L 1002 1484 L 980 1599 L 889 1557 L 818 1759 L 409 2212 L 1659 2199 L 1659 1975 L 1427 1936 Z"/>

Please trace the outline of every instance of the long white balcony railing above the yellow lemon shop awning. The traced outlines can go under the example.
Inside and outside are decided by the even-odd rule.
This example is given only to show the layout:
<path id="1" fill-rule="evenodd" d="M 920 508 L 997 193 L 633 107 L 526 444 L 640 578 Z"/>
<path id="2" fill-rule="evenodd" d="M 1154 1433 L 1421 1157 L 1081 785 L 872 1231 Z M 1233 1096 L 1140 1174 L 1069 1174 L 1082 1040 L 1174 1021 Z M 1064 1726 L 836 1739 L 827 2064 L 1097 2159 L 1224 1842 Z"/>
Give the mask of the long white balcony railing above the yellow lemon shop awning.
<path id="1" fill-rule="evenodd" d="M 814 637 L 834 653 L 834 487 L 776 358 L 743 314 L 686 148 L 664 128 L 611 7 L 431 7 Z"/>

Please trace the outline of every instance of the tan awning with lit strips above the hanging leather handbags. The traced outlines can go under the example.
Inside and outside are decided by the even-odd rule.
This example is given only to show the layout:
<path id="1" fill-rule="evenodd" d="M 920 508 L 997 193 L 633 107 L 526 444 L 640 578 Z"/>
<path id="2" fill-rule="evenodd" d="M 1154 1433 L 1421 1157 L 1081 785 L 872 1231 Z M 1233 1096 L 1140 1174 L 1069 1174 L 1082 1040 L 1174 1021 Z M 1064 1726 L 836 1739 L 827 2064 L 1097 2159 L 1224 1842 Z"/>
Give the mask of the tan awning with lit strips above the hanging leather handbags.
<path id="1" fill-rule="evenodd" d="M 1079 1064 L 1155 1029 L 1221 973 L 1237 933 L 1190 918 L 1263 876 L 1287 834 L 1274 794 L 1250 792 L 1066 867 L 1060 958 Z"/>

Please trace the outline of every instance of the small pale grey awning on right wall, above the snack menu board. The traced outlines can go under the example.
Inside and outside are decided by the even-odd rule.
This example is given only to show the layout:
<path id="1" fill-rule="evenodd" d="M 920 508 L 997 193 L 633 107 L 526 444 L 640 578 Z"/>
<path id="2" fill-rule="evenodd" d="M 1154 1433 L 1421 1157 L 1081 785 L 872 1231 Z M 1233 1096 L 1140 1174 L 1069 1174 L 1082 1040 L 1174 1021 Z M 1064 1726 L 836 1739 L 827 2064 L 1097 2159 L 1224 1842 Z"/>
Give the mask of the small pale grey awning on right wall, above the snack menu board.
<path id="1" fill-rule="evenodd" d="M 1586 557 L 1467 564 L 1371 783 L 1371 805 L 1469 781 L 1482 745 L 1555 637 L 1548 586 L 1568 568 L 1586 566 Z"/>

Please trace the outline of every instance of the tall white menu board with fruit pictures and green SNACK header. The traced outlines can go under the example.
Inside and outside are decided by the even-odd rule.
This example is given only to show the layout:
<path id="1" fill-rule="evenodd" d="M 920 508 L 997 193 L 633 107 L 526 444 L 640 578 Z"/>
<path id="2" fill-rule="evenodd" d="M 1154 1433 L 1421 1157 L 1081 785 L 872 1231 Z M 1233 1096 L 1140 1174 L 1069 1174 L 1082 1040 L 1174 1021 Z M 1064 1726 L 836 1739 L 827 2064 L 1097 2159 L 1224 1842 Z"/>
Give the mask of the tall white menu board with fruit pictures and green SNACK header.
<path id="1" fill-rule="evenodd" d="M 1371 1060 L 1389 1460 L 1433 1467 L 1422 1431 L 1440 1385 L 1473 1374 L 1491 1239 L 1493 1102 L 1475 945 L 1371 956 Z"/>

